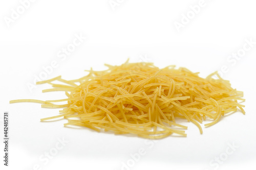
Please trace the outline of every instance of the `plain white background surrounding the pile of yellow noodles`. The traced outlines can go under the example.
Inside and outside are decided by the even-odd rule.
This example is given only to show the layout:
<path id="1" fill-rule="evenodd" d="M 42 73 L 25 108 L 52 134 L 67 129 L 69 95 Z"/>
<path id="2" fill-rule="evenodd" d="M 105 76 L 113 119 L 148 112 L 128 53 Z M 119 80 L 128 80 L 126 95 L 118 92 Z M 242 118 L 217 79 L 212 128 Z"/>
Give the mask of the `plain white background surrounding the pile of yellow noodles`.
<path id="1" fill-rule="evenodd" d="M 109 0 L 38 0 L 9 27 L 6 18 L 21 4 L 17 0 L 0 2 L 1 138 L 3 113 L 10 113 L 10 166 L 3 165 L 1 142 L 1 169 L 31 170 L 37 169 L 36 164 L 39 169 L 122 169 L 122 162 L 133 163 L 130 154 L 136 155 L 140 148 L 146 150 L 145 155 L 126 169 L 255 169 L 254 2 L 205 0 L 204 7 L 179 32 L 175 23 L 181 23 L 183 14 L 192 16 L 189 6 L 199 1 L 114 2 L 119 2 L 115 10 Z M 75 34 L 87 39 L 61 60 L 58 53 L 73 42 Z M 254 42 L 250 50 L 239 60 L 228 61 L 232 53 L 243 51 L 246 39 Z M 195 125 L 184 123 L 188 126 L 186 138 L 169 136 L 153 143 L 135 136 L 64 128 L 67 120 L 40 123 L 40 118 L 57 115 L 58 109 L 43 109 L 34 103 L 9 104 L 14 99 L 62 99 L 62 92 L 41 93 L 48 85 L 38 85 L 32 91 L 27 86 L 52 61 L 57 67 L 47 79 L 62 75 L 69 80 L 86 75 L 84 69 L 102 70 L 104 63 L 122 64 L 127 58 L 151 61 L 159 67 L 187 67 L 200 71 L 201 77 L 226 66 L 222 77 L 244 91 L 246 114 L 238 111 L 225 116 L 215 126 L 203 128 L 202 135 Z M 39 160 L 62 138 L 69 142 L 52 159 Z M 228 143 L 238 148 L 217 163 L 218 167 L 210 164 L 225 156 Z"/>

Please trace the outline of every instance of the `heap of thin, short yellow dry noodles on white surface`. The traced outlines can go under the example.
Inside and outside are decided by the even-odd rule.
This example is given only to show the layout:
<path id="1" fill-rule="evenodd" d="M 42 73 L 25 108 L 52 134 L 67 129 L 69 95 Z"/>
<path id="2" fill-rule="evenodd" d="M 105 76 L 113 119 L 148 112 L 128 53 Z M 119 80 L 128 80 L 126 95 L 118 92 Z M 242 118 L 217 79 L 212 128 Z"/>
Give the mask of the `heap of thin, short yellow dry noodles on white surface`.
<path id="1" fill-rule="evenodd" d="M 186 68 L 167 66 L 159 69 L 153 63 L 129 63 L 112 66 L 107 70 L 87 70 L 89 74 L 76 80 L 56 77 L 37 82 L 48 83 L 53 88 L 42 90 L 64 91 L 67 99 L 39 101 L 13 100 L 16 102 L 37 102 L 44 108 L 63 108 L 59 115 L 42 118 L 41 121 L 63 117 L 65 126 L 83 126 L 100 132 L 115 134 L 136 134 L 145 138 L 163 138 L 171 134 L 186 136 L 186 121 L 198 126 L 204 120 L 215 125 L 226 113 L 239 108 L 243 114 L 244 105 L 238 101 L 243 92 L 233 89 L 229 81 L 223 80 L 217 72 L 206 79 L 200 78 Z M 218 76 L 213 79 L 212 76 Z M 60 84 L 52 83 L 59 81 Z M 58 102 L 67 104 L 54 104 Z"/>

